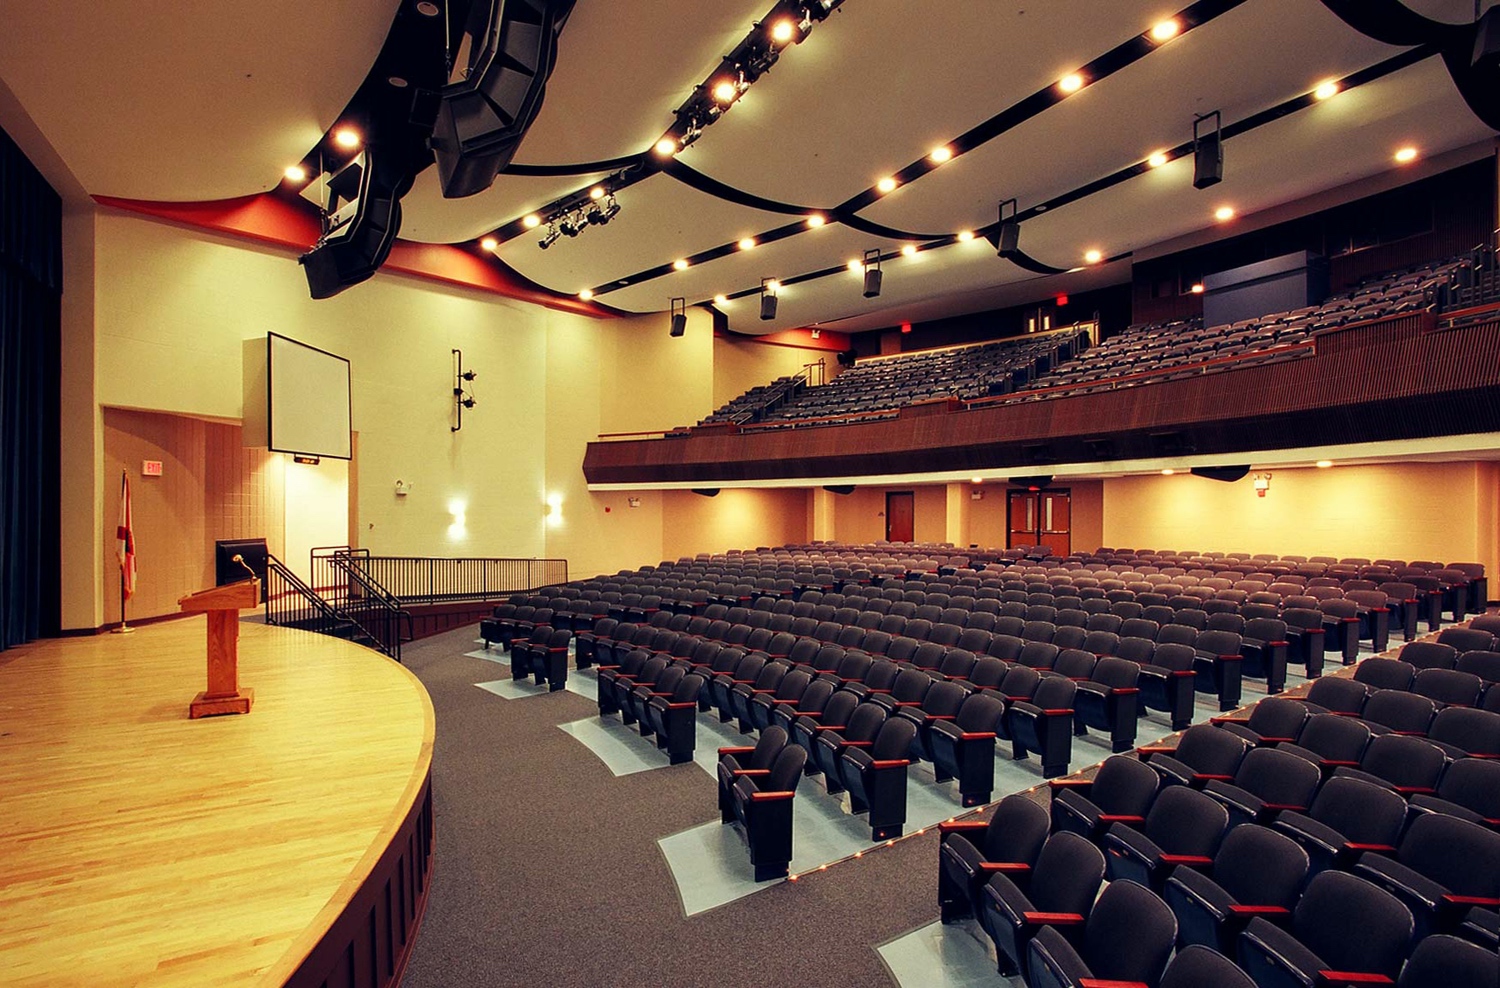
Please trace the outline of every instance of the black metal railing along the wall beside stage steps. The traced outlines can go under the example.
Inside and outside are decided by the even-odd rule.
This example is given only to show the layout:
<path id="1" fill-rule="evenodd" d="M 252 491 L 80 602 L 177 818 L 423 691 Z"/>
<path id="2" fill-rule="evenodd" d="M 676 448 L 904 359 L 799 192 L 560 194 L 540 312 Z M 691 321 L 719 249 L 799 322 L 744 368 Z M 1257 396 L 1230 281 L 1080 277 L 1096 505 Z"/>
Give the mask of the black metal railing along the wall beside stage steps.
<path id="1" fill-rule="evenodd" d="M 567 583 L 567 559 L 374 556 L 363 549 L 326 546 L 312 550 L 312 576 L 318 592 L 334 600 L 380 594 L 405 607 L 495 600 Z"/>

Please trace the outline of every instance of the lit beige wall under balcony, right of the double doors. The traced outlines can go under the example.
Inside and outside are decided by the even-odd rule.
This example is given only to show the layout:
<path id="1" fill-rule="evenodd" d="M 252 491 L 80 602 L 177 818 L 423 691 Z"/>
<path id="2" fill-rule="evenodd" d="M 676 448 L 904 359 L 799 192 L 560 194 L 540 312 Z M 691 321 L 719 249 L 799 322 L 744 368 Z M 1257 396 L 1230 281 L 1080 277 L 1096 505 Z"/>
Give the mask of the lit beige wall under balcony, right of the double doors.
<path id="1" fill-rule="evenodd" d="M 1107 546 L 1480 561 L 1494 571 L 1494 465 L 1390 463 L 1278 469 L 1250 478 L 1104 481 Z M 1488 556 L 1485 556 L 1488 553 Z"/>

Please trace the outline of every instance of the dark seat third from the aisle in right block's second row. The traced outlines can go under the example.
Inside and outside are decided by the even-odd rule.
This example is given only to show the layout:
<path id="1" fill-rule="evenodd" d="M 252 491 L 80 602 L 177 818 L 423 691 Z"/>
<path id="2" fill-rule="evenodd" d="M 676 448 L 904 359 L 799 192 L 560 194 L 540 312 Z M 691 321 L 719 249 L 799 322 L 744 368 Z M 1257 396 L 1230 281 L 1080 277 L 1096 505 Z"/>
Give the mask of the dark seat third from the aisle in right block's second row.
<path id="1" fill-rule="evenodd" d="M 1224 835 L 1212 871 L 1178 868 L 1161 897 L 1178 918 L 1178 943 L 1236 951 L 1256 916 L 1290 918 L 1308 876 L 1308 855 L 1290 838 L 1263 826 L 1238 826 Z"/>

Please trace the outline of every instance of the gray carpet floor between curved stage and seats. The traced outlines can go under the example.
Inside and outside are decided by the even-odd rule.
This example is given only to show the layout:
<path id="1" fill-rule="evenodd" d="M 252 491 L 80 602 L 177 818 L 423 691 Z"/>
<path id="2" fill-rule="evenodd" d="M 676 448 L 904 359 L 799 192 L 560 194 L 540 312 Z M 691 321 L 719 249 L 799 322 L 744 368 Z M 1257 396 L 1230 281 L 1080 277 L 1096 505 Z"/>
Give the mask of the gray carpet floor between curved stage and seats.
<path id="1" fill-rule="evenodd" d="M 556 727 L 592 703 L 474 688 L 507 670 L 465 658 L 472 640 L 404 649 L 436 709 L 436 864 L 406 988 L 892 984 L 874 948 L 936 919 L 936 834 L 684 919 L 656 841 L 718 819 L 712 780 L 616 778 Z"/>

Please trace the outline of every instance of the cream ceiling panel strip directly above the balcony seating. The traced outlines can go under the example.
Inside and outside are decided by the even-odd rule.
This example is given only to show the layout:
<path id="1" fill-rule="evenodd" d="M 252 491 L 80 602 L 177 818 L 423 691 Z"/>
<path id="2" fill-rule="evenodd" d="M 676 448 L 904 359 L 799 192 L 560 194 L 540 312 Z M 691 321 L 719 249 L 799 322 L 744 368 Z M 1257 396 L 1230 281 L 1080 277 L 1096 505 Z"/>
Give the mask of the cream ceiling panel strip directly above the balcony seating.
<path id="1" fill-rule="evenodd" d="M 1192 189 L 1192 163 L 1180 159 L 1022 223 L 1020 246 L 1059 265 L 1089 249 L 1116 255 L 1212 226 L 1220 205 L 1254 213 L 1388 171 L 1398 147 L 1431 156 L 1491 136 L 1446 78 L 1428 58 L 1226 141 L 1224 181 L 1212 189 Z M 1340 115 L 1336 127 L 1324 112 Z"/>

